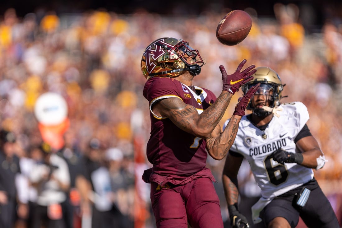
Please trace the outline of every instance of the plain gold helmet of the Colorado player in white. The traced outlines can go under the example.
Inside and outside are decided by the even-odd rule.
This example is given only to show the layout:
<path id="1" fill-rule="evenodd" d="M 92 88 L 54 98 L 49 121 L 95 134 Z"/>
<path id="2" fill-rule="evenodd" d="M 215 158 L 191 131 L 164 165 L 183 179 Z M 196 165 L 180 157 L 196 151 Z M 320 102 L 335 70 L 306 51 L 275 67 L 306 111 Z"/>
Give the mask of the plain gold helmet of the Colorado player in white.
<path id="1" fill-rule="evenodd" d="M 271 101 L 270 107 L 275 107 L 280 105 L 281 92 L 284 89 L 285 84 L 281 83 L 280 77 L 273 69 L 266 66 L 260 66 L 255 68 L 257 71 L 252 75 L 254 78 L 241 87 L 244 94 L 252 86 L 261 83 L 259 90 L 255 94 L 262 94 L 268 96 L 268 100 Z M 269 91 L 273 94 L 269 94 Z M 258 116 L 264 116 L 270 114 L 263 109 L 255 109 L 252 102 L 249 102 L 247 109 L 253 110 L 254 114 Z"/>

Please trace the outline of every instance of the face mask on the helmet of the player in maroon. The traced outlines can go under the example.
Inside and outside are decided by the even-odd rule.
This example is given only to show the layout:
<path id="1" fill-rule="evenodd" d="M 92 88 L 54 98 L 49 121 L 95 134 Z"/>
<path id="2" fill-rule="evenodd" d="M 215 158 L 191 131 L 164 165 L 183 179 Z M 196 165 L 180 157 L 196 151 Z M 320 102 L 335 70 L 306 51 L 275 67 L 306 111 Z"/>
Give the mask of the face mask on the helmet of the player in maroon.
<path id="1" fill-rule="evenodd" d="M 189 46 L 186 41 L 181 41 L 177 43 L 176 46 L 170 51 L 170 59 L 172 59 L 172 52 L 178 54 L 178 58 L 181 58 L 187 65 L 200 64 L 200 66 L 205 64 L 205 60 L 202 60 L 198 50 L 193 49 Z"/>

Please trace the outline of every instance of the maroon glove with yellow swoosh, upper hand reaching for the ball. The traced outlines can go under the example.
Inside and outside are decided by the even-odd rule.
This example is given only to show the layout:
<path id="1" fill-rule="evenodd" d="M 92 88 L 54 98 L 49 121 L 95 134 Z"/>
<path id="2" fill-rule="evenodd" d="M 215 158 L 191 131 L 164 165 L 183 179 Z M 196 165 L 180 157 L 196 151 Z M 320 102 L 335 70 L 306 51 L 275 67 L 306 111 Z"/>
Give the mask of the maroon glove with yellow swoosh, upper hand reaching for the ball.
<path id="1" fill-rule="evenodd" d="M 222 82 L 223 88 L 222 90 L 228 91 L 234 94 L 239 88 L 247 83 L 248 81 L 252 80 L 254 77 L 251 77 L 257 70 L 253 69 L 255 65 L 251 65 L 247 67 L 244 71 L 240 72 L 242 67 L 245 65 L 247 60 L 242 60 L 242 62 L 237 67 L 236 71 L 233 74 L 227 75 L 227 72 L 224 66 L 220 66 L 220 71 L 222 74 Z M 252 70 L 253 69 L 253 70 Z"/>

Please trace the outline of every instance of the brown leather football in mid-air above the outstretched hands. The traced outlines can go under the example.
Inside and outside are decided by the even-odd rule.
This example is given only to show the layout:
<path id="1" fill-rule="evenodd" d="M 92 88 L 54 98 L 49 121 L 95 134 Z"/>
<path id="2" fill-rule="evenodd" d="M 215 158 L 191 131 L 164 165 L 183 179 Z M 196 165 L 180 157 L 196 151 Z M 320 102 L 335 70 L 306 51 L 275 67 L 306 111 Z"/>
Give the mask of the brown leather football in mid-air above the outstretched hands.
<path id="1" fill-rule="evenodd" d="M 252 27 L 251 16 L 243 10 L 227 13 L 216 28 L 216 37 L 224 45 L 237 45 L 244 40 Z"/>

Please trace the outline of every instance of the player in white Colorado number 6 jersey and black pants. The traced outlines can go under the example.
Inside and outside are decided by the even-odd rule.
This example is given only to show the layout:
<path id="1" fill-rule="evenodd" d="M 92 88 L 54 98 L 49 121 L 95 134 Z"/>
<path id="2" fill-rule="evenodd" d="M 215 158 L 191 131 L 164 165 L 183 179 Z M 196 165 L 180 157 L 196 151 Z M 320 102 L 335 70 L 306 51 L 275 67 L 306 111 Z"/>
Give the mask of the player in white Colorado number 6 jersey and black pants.
<path id="1" fill-rule="evenodd" d="M 339 228 L 330 202 L 314 178 L 326 160 L 306 122 L 301 102 L 280 104 L 283 84 L 269 67 L 258 67 L 254 79 L 242 86 L 246 93 L 261 83 L 242 117 L 229 149 L 222 181 L 232 227 L 249 227 L 238 210 L 237 174 L 243 159 L 249 162 L 262 197 L 252 207 L 253 223 L 266 227 L 297 226 L 299 216 L 308 227 Z M 228 123 L 228 121 L 226 122 Z"/>

